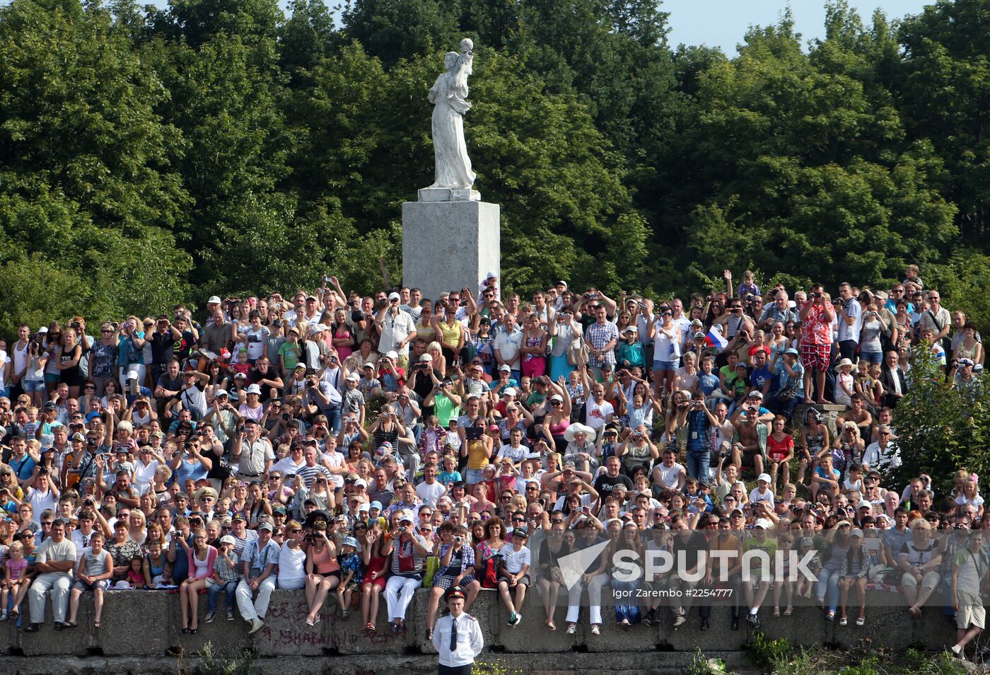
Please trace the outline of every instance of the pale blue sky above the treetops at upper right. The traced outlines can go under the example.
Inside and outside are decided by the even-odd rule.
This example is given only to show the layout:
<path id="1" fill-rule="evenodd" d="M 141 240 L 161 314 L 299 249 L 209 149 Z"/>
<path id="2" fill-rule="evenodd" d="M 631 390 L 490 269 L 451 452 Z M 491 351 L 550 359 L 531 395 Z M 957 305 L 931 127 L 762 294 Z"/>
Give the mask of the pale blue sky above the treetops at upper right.
<path id="1" fill-rule="evenodd" d="M 743 41 L 743 34 L 752 25 L 766 26 L 776 23 L 781 11 L 791 7 L 795 31 L 807 41 L 821 38 L 825 26 L 824 0 L 664 0 L 662 9 L 670 14 L 671 47 L 707 45 L 721 47 L 728 56 L 736 55 L 736 46 Z M 868 26 L 873 11 L 878 7 L 888 19 L 906 14 L 918 14 L 932 0 L 849 0 Z"/>

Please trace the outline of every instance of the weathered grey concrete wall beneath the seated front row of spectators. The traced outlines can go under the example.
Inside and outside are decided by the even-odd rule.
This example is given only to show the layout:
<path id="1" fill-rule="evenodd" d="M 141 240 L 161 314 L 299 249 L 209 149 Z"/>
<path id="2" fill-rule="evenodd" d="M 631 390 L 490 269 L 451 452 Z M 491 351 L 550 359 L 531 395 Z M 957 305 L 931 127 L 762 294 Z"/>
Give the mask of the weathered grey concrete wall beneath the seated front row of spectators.
<path id="1" fill-rule="evenodd" d="M 873 593 L 883 592 L 870 592 Z M 161 657 L 198 652 L 207 642 L 212 642 L 215 652 L 224 654 L 237 654 L 250 649 L 259 662 L 266 657 L 293 657 L 305 662 L 307 657 L 328 656 L 331 658 L 314 660 L 327 664 L 339 659 L 344 664 L 350 662 L 348 657 L 351 655 L 363 655 L 368 659 L 374 657 L 374 662 L 383 665 L 377 669 L 364 668 L 364 672 L 384 675 L 393 672 L 392 665 L 399 662 L 394 659 L 435 653 L 424 629 L 427 599 L 426 591 L 417 593 L 407 615 L 410 629 L 402 636 L 392 634 L 387 622 L 382 619 L 385 614 L 383 601 L 378 619 L 380 627 L 368 637 L 360 630 L 360 612 L 352 612 L 347 620 L 340 619 L 335 614 L 336 601 L 328 603 L 323 620 L 313 627 L 307 626 L 303 621 L 305 600 L 302 591 L 275 591 L 265 626 L 253 635 L 247 635 L 247 622 L 237 612 L 234 621 L 226 620 L 223 601 L 217 619 L 212 623 L 204 622 L 206 599 L 202 597 L 199 631 L 196 635 L 183 635 L 178 630 L 177 595 L 157 591 L 111 592 L 107 594 L 102 627 L 99 629 L 93 627 L 92 604 L 86 599 L 80 608 L 79 627 L 72 630 L 54 631 L 51 628 L 50 608 L 48 624 L 37 633 L 20 631 L 16 621 L 0 623 L 0 653 L 13 655 L 0 658 L 0 672 L 28 672 L 24 664 L 33 659 L 24 659 L 20 657 L 22 654 L 87 657 L 81 661 L 93 666 L 97 665 L 93 661 L 98 655 L 130 658 L 148 664 L 171 663 L 171 672 L 175 672 L 174 659 Z M 854 647 L 871 643 L 892 649 L 918 645 L 940 650 L 954 643 L 954 628 L 944 619 L 940 607 L 929 607 L 922 619 L 911 619 L 902 607 L 879 607 L 890 603 L 889 593 L 883 593 L 882 599 L 876 596 L 874 600 L 877 602 L 870 603 L 867 599 L 869 609 L 867 623 L 863 627 L 855 627 L 851 621 L 850 625 L 841 627 L 838 623 L 826 621 L 824 614 L 814 608 L 797 608 L 794 616 L 780 619 L 773 619 L 770 610 L 764 608 L 760 612 L 761 630 L 770 637 L 786 637 L 792 644 L 807 646 L 834 644 Z M 486 651 L 493 647 L 494 652 L 499 652 L 497 656 L 558 653 L 561 658 L 566 654 L 569 659 L 593 653 L 612 653 L 617 658 L 622 655 L 624 662 L 635 664 L 637 659 L 642 658 L 643 663 L 656 663 L 664 659 L 677 660 L 665 654 L 686 654 L 698 648 L 705 652 L 732 653 L 739 651 L 748 637 L 748 626 L 744 620 L 739 630 L 730 630 L 728 608 L 715 608 L 712 628 L 702 631 L 696 612 L 692 612 L 690 620 L 676 630 L 670 627 L 672 619 L 669 614 L 665 615 L 662 625 L 636 625 L 623 630 L 615 625 L 612 609 L 606 607 L 603 609 L 605 623 L 601 635 L 591 633 L 586 623 L 586 609 L 582 609 L 582 622 L 577 633 L 566 635 L 565 612 L 565 608 L 557 608 L 557 630 L 550 632 L 544 625 L 542 601 L 536 593 L 529 595 L 523 622 L 516 628 L 506 624 L 508 613 L 494 592 L 483 592 L 471 608 L 471 614 L 478 619 L 484 631 Z M 25 603 L 22 620 L 29 620 L 28 615 Z M 421 658 L 430 661 L 426 656 Z M 118 668 L 111 668 L 111 671 L 116 670 Z"/>

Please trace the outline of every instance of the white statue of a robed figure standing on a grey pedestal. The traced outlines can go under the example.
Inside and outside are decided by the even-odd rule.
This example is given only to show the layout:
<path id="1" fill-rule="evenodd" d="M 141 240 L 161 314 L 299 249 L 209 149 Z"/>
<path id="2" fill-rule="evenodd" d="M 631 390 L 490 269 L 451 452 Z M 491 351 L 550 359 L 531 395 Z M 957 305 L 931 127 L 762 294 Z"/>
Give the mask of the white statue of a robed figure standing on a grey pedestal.
<path id="1" fill-rule="evenodd" d="M 467 76 L 474 64 L 474 44 L 464 38 L 460 41 L 460 54 L 447 52 L 444 57 L 446 72 L 442 73 L 430 89 L 430 102 L 434 104 L 433 137 L 436 171 L 431 187 L 470 188 L 475 173 L 467 157 L 464 144 L 464 113 L 471 109 L 467 98 Z"/>

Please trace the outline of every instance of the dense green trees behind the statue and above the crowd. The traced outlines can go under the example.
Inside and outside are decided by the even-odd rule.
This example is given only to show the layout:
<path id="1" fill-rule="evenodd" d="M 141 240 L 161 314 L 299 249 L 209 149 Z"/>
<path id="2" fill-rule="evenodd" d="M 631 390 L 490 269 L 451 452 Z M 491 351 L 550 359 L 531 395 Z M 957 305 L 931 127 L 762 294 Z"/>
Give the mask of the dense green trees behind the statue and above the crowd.
<path id="1" fill-rule="evenodd" d="M 617 290 L 725 267 L 948 306 L 990 281 L 990 0 L 741 53 L 666 42 L 655 0 L 13 0 L 0 8 L 0 330 L 212 293 L 401 276 L 432 180 L 426 99 L 474 39 L 466 135 L 503 272 Z M 967 304 L 968 303 L 968 304 Z"/>

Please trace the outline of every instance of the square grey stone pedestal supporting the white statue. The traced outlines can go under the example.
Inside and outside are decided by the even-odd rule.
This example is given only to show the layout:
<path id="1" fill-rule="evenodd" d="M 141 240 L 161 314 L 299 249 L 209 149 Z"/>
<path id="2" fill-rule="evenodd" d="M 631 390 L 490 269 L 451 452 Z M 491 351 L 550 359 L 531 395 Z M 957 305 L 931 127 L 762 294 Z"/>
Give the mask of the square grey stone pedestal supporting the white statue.
<path id="1" fill-rule="evenodd" d="M 489 272 L 501 277 L 499 205 L 471 199 L 426 200 L 423 193 L 474 192 L 428 188 L 421 201 L 402 204 L 402 283 L 423 289 L 423 297 L 467 286 L 477 297 Z M 440 196 L 437 194 L 437 196 Z M 470 196 L 470 195 L 468 195 Z M 501 285 L 501 280 L 499 280 Z"/>

